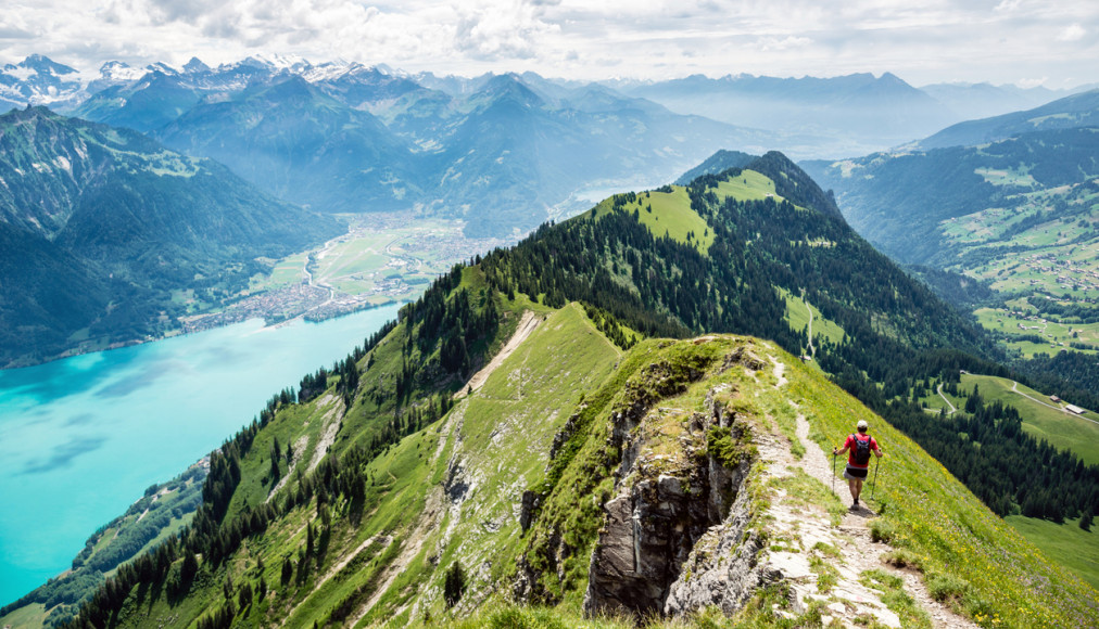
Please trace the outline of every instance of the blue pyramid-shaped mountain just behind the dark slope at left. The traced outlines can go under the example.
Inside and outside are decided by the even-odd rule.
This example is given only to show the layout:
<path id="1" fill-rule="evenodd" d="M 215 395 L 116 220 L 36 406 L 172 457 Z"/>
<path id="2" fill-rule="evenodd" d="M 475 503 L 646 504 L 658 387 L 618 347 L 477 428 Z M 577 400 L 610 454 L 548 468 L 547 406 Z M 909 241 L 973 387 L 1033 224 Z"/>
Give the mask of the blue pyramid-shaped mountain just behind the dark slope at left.
<path id="1" fill-rule="evenodd" d="M 422 198 L 422 175 L 403 142 L 300 77 L 202 103 L 154 135 L 318 211 L 408 207 Z"/>

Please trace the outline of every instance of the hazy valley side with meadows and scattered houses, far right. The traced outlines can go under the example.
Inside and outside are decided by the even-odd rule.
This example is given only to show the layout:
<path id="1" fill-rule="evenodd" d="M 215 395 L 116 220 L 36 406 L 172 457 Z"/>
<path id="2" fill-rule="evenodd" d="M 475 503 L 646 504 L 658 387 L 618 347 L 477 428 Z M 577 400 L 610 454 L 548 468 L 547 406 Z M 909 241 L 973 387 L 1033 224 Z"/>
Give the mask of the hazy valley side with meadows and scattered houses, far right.
<path id="1" fill-rule="evenodd" d="M 835 191 L 861 234 L 902 262 L 926 265 L 943 295 L 1028 359 L 1017 367 L 1032 385 L 1099 405 L 1095 127 L 803 166 Z"/>

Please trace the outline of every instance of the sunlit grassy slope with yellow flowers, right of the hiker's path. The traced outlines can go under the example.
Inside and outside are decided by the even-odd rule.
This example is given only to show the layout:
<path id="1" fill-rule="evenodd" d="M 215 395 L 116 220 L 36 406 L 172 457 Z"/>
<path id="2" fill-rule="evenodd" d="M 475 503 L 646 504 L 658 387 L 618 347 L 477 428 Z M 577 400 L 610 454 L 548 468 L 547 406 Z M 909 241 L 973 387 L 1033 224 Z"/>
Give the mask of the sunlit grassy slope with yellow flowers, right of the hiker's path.
<path id="1" fill-rule="evenodd" d="M 877 486 L 878 535 L 912 554 L 934 594 L 983 626 L 1086 627 L 1099 621 L 1097 593 L 996 517 L 942 464 L 824 375 L 791 364 L 790 390 L 804 402 L 825 451 L 859 419 L 887 457 Z M 998 622 L 997 622 L 998 620 Z"/>

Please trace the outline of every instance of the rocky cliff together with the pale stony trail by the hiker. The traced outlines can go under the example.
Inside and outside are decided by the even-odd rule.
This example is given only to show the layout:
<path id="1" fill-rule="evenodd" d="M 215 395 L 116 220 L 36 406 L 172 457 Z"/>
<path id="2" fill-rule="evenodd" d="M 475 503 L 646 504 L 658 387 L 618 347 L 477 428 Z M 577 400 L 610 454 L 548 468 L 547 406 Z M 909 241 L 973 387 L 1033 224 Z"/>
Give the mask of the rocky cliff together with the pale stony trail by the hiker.
<path id="1" fill-rule="evenodd" d="M 660 370 L 643 369 L 642 380 L 665 381 Z M 919 602 L 903 621 L 975 627 L 882 562 L 896 549 L 873 539 L 876 514 L 847 512 L 829 490 L 831 469 L 809 439 L 784 362 L 766 346 L 736 344 L 706 371 L 691 387 L 704 391 L 701 400 L 669 395 L 643 414 L 610 418 L 608 446 L 622 456 L 591 552 L 585 615 L 736 616 L 770 596 L 788 619 L 900 627 L 902 609 L 890 608 L 884 585 L 896 580 Z"/>

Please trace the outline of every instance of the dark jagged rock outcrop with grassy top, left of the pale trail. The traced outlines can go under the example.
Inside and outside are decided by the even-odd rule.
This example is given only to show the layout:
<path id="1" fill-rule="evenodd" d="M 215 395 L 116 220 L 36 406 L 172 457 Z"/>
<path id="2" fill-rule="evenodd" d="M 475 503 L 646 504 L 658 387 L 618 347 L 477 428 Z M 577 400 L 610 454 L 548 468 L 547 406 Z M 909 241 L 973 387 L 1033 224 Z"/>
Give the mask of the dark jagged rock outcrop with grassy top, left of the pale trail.
<path id="1" fill-rule="evenodd" d="M 752 460 L 743 443 L 746 425 L 726 404 L 732 394 L 729 387 L 711 391 L 704 413 L 656 407 L 642 417 L 613 417 L 622 463 L 591 557 L 586 614 L 664 614 L 699 540 L 726 517 L 746 521 L 730 512 L 744 503 Z M 744 456 L 730 459 L 717 439 Z"/>

